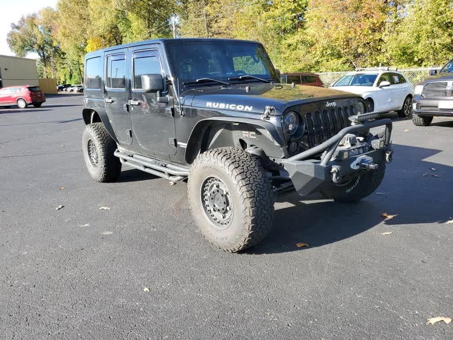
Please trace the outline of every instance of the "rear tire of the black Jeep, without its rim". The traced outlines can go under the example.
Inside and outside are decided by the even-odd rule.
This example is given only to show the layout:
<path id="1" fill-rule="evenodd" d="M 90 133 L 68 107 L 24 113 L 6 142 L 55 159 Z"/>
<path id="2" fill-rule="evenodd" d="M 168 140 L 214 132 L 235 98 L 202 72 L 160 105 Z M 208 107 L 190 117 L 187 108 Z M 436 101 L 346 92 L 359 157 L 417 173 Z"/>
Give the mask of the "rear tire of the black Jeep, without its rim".
<path id="1" fill-rule="evenodd" d="M 91 141 L 91 142 L 90 142 Z M 97 162 L 91 159 L 90 146 L 97 152 Z M 121 162 L 114 156 L 117 143 L 102 123 L 92 123 L 85 126 L 82 135 L 82 152 L 85 165 L 90 175 L 97 182 L 114 182 L 121 172 Z"/>

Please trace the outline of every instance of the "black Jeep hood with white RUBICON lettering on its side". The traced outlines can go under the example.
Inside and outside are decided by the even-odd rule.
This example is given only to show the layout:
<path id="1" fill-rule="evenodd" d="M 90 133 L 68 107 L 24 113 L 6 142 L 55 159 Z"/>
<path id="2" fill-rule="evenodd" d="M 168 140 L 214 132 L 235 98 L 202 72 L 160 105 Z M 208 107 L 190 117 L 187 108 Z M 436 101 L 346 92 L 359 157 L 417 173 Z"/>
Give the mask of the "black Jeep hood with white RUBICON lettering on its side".
<path id="1" fill-rule="evenodd" d="M 225 109 L 262 114 L 273 106 L 278 114 L 286 108 L 313 101 L 358 97 L 343 91 L 308 85 L 238 84 L 232 86 L 198 87 L 181 93 L 185 105 L 197 108 Z M 191 99 L 187 100 L 188 97 Z"/>

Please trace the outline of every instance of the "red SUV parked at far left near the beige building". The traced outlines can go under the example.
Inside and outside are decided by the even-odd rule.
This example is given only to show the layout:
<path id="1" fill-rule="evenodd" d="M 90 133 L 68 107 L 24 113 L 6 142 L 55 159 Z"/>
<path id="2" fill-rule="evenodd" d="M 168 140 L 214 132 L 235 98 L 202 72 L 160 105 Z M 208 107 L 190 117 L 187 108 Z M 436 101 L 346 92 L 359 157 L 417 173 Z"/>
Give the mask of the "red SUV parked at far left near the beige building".
<path id="1" fill-rule="evenodd" d="M 17 105 L 24 109 L 29 104 L 40 107 L 46 98 L 38 86 L 7 86 L 0 89 L 0 106 Z"/>

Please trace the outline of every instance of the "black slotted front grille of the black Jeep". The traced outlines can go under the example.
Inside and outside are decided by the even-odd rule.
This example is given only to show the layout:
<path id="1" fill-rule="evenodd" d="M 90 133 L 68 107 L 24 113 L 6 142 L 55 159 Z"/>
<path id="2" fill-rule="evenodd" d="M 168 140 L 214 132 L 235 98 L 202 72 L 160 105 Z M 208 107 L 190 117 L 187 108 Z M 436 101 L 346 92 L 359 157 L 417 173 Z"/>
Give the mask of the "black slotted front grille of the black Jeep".
<path id="1" fill-rule="evenodd" d="M 305 123 L 310 147 L 320 145 L 341 129 L 351 125 L 348 118 L 355 113 L 356 109 L 353 105 L 306 112 Z"/>

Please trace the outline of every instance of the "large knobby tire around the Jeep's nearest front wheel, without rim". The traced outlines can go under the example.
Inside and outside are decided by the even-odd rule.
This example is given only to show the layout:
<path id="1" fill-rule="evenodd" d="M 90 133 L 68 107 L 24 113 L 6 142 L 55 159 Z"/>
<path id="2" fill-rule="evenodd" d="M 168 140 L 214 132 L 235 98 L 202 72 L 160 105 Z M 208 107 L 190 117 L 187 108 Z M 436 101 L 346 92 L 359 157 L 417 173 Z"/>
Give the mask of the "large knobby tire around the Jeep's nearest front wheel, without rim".
<path id="1" fill-rule="evenodd" d="M 201 198 L 204 181 L 212 177 L 223 182 L 232 203 L 231 222 L 222 230 L 208 218 Z M 190 168 L 188 196 L 202 235 L 224 251 L 260 243 L 272 227 L 275 197 L 270 180 L 260 157 L 241 149 L 220 147 L 198 155 Z"/>

